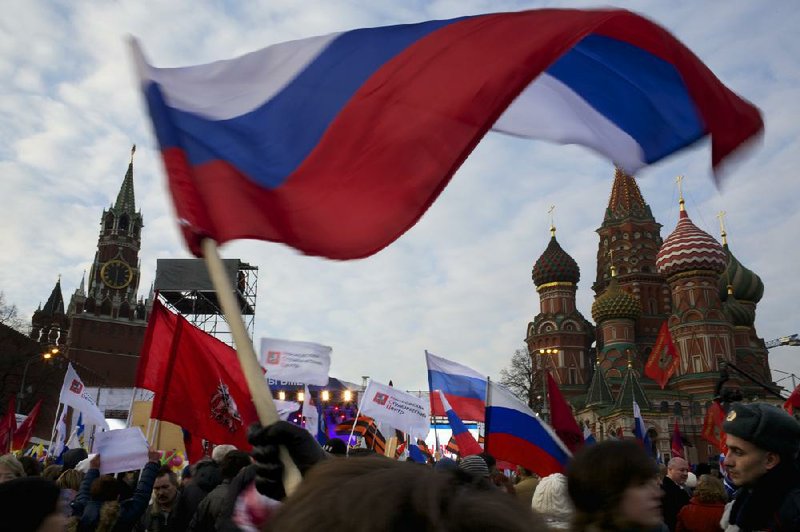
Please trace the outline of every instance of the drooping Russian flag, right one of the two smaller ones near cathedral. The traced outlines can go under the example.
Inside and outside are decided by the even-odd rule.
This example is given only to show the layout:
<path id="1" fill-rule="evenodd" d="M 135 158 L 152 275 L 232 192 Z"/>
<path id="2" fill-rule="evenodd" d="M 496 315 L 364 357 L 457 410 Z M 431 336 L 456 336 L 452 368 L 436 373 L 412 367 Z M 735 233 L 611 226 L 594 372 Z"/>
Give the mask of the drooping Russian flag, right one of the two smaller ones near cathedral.
<path id="1" fill-rule="evenodd" d="M 550 426 L 508 391 L 489 384 L 486 452 L 534 471 L 540 477 L 563 473 L 572 454 Z"/>

